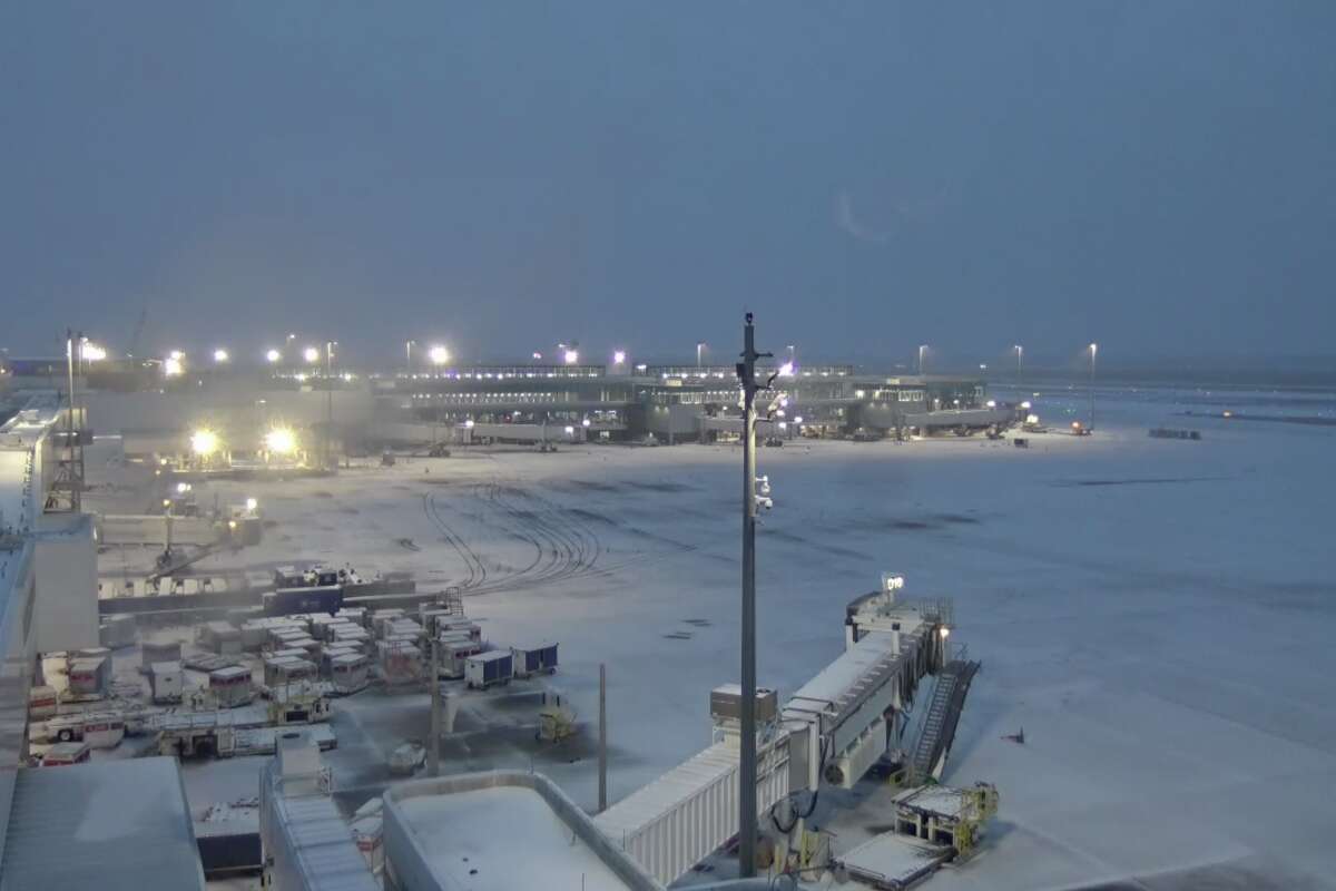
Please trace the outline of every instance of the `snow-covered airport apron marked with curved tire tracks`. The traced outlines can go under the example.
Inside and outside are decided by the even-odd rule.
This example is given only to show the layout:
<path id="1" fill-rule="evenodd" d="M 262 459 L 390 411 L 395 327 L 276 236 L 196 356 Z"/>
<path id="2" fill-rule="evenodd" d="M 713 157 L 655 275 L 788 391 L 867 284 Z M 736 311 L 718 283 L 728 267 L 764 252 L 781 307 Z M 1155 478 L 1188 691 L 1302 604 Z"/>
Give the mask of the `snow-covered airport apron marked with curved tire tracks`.
<path id="1" fill-rule="evenodd" d="M 1178 887 L 1189 867 L 1249 887 L 1276 872 L 1275 887 L 1331 882 L 1336 429 L 1177 414 L 1233 401 L 1331 410 L 1329 397 L 1292 397 L 1104 390 L 1094 437 L 1035 435 L 1027 450 L 975 438 L 762 450 L 775 497 L 759 538 L 762 684 L 783 696 L 834 659 L 844 604 L 886 569 L 910 594 L 954 597 L 953 640 L 983 661 L 947 780 L 995 783 L 1002 808 L 993 844 L 934 887 L 1161 874 L 1154 887 Z M 1088 410 L 1079 390 L 1037 409 L 1062 426 Z M 1150 439 L 1149 426 L 1204 439 Z M 202 502 L 254 494 L 277 525 L 206 566 L 318 558 L 465 585 L 493 643 L 560 641 L 553 683 L 585 720 L 607 663 L 616 800 L 708 744 L 708 692 L 736 680 L 739 469 L 733 446 L 584 446 L 219 482 Z M 381 732 L 382 707 L 411 720 Z M 339 708 L 347 752 L 367 757 L 426 723 L 407 700 Z M 1023 747 L 1001 739 L 1021 727 Z M 588 747 L 538 769 L 593 806 Z"/>

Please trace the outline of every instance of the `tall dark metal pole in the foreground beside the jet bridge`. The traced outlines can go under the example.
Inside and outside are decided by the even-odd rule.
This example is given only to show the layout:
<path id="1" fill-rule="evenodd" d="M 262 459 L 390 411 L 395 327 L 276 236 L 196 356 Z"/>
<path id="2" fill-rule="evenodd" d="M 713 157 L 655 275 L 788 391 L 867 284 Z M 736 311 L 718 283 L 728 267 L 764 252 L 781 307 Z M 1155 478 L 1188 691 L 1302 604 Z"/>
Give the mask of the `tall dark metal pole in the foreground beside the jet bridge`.
<path id="1" fill-rule="evenodd" d="M 758 353 L 752 314 L 743 327 L 743 361 L 737 378 L 743 385 L 743 665 L 741 740 L 737 773 L 737 870 L 744 879 L 756 875 L 756 382 Z"/>

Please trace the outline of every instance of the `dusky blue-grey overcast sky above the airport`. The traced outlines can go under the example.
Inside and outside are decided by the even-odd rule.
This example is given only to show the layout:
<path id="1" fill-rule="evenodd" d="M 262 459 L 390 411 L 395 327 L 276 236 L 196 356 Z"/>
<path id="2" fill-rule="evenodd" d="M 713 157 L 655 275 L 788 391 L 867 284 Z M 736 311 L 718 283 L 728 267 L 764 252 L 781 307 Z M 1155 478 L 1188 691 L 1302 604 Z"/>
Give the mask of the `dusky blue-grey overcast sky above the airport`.
<path id="1" fill-rule="evenodd" d="M 1333 351 L 1331 0 L 9 0 L 0 75 L 16 354 L 142 310 L 732 353 L 744 307 L 864 358 Z"/>

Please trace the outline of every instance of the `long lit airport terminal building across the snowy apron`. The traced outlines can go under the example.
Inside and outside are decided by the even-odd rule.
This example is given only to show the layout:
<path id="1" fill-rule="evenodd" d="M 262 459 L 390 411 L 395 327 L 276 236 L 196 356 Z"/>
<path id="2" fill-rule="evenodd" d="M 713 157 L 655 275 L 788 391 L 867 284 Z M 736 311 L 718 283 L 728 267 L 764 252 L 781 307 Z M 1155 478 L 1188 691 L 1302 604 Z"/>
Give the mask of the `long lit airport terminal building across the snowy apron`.
<path id="1" fill-rule="evenodd" d="M 53 367 L 16 363 L 9 386 L 59 386 Z M 979 378 L 878 375 L 851 365 L 762 373 L 774 379 L 772 397 L 759 402 L 758 435 L 772 443 L 967 434 L 1015 419 L 1013 409 L 989 399 Z M 104 363 L 84 379 L 90 426 L 124 435 L 127 450 L 186 454 L 206 430 L 218 460 L 242 465 L 315 465 L 331 456 L 430 446 L 709 443 L 741 433 L 732 366 L 227 367 L 164 378 L 150 363 Z"/>

